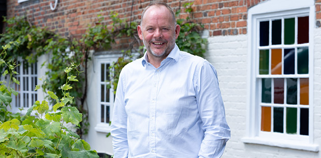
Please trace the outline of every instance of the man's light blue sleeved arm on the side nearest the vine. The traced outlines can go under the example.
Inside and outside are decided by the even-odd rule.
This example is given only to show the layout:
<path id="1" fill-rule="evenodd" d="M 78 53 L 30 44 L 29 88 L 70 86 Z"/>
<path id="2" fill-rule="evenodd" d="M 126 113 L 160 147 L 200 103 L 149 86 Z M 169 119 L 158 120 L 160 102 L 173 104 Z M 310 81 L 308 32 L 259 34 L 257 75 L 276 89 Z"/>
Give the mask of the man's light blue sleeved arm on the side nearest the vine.
<path id="1" fill-rule="evenodd" d="M 124 102 L 124 82 L 122 73 L 119 76 L 114 110 L 112 115 L 111 135 L 113 136 L 113 149 L 115 158 L 128 157 L 127 142 L 127 114 Z"/>

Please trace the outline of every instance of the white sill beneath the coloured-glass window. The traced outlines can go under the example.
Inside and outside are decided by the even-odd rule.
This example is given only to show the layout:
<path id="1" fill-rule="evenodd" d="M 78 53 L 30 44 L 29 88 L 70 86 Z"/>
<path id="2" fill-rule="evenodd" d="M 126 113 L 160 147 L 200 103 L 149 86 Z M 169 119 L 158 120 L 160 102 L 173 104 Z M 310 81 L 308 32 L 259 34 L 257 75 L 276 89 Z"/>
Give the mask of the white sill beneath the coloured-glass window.
<path id="1" fill-rule="evenodd" d="M 277 146 L 282 148 L 307 150 L 307 151 L 313 151 L 313 152 L 319 151 L 318 144 L 310 144 L 310 143 L 301 142 L 301 141 L 300 142 L 293 141 L 293 140 L 280 141 L 279 139 L 259 138 L 259 137 L 253 137 L 253 138 L 246 137 L 246 138 L 242 138 L 241 141 L 243 143 Z"/>

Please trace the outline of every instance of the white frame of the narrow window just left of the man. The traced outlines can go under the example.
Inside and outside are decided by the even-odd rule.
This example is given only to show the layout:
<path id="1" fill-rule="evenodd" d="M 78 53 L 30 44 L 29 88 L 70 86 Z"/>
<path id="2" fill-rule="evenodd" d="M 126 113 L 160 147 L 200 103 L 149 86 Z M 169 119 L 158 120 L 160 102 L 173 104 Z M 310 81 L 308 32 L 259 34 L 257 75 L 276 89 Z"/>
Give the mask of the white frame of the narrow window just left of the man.
<path id="1" fill-rule="evenodd" d="M 100 55 L 100 56 L 95 56 L 94 58 L 94 64 L 95 64 L 95 73 L 96 73 L 96 83 L 97 83 L 97 92 L 98 92 L 98 95 L 97 95 L 97 111 L 96 111 L 96 120 L 97 120 L 97 124 L 95 126 L 95 130 L 98 131 L 98 132 L 102 132 L 102 133 L 110 133 L 111 131 L 111 127 L 110 127 L 110 124 L 109 122 L 107 123 L 104 123 L 104 122 L 101 122 L 101 104 L 108 104 L 110 109 L 110 120 L 112 119 L 112 116 L 113 116 L 113 107 L 114 107 L 114 98 L 115 98 L 115 95 L 114 95 L 114 90 L 113 90 L 113 87 L 110 89 L 110 100 L 109 100 L 109 103 L 106 103 L 106 102 L 101 102 L 101 64 L 103 63 L 107 63 L 107 64 L 112 64 L 113 62 L 116 62 L 117 59 L 121 57 L 121 55 L 118 55 L 118 54 L 113 54 L 113 55 Z M 105 110 L 104 110 L 105 112 Z"/>

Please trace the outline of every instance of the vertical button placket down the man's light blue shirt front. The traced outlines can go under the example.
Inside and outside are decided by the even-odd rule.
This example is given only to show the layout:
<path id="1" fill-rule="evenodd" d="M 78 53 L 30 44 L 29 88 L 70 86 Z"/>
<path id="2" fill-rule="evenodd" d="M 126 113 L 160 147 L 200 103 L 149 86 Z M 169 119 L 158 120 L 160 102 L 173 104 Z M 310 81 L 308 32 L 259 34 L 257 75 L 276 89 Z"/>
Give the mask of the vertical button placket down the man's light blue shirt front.
<path id="1" fill-rule="evenodd" d="M 159 69 L 156 69 L 153 76 L 152 81 L 152 91 L 151 91 L 151 103 L 149 109 L 149 149 L 150 149 L 150 157 L 156 157 L 156 95 L 157 95 L 157 85 L 159 81 Z"/>

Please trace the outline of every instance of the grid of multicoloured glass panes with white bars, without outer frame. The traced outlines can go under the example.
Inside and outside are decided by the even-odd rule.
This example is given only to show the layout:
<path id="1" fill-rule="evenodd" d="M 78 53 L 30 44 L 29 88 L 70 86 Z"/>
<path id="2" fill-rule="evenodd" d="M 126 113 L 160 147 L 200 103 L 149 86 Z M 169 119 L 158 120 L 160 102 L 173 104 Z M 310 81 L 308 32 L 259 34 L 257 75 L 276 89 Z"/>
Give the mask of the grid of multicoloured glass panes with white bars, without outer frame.
<path id="1" fill-rule="evenodd" d="M 309 16 L 263 19 L 258 24 L 260 131 L 307 136 Z"/>

